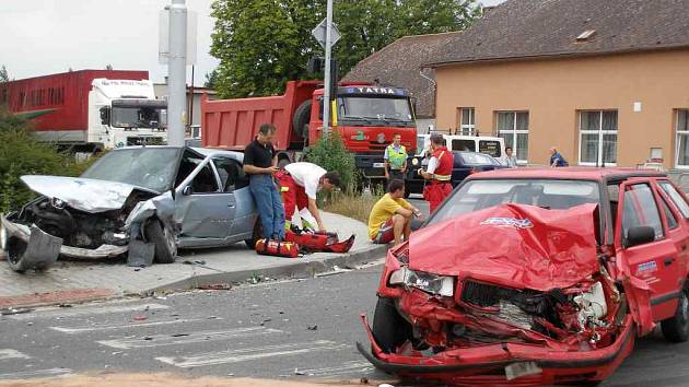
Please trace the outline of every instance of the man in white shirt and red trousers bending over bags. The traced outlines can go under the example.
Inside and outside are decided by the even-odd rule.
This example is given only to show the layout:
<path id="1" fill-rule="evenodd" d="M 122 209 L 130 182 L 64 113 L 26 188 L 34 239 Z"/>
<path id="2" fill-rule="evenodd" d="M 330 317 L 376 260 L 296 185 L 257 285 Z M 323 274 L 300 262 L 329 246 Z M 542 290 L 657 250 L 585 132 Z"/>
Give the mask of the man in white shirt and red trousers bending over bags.
<path id="1" fill-rule="evenodd" d="M 300 211 L 303 228 L 315 228 L 325 232 L 326 227 L 318 212 L 316 194 L 320 189 L 331 190 L 340 185 L 340 176 L 337 172 L 327 172 L 313 163 L 292 163 L 284 166 L 284 171 L 276 174 L 280 184 L 282 201 L 284 203 L 285 228 L 290 228 L 294 209 Z M 313 219 L 304 219 L 304 209 Z M 316 222 L 314 225 L 313 222 Z"/>

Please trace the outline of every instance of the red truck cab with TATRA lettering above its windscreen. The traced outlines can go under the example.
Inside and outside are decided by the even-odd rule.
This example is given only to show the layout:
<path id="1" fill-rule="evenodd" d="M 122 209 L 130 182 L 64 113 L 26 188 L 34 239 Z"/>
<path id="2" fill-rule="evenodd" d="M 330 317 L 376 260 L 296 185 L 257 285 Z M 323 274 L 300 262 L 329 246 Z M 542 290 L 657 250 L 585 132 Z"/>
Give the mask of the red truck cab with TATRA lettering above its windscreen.
<path id="1" fill-rule="evenodd" d="M 323 130 L 323 89 L 313 94 L 308 143 L 315 144 Z M 401 87 L 344 84 L 332 102 L 331 126 L 342 137 L 347 149 L 366 178 L 384 178 L 385 148 L 395 134 L 408 154 L 417 149 L 417 125 L 409 91 Z"/>

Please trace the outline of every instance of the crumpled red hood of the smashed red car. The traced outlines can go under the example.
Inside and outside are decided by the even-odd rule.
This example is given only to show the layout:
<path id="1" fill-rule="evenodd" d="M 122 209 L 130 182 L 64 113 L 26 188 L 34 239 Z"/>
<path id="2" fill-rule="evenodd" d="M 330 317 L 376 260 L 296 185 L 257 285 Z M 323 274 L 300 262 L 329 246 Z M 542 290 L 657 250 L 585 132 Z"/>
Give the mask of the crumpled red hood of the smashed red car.
<path id="1" fill-rule="evenodd" d="M 502 204 L 414 232 L 409 268 L 516 289 L 569 288 L 598 270 L 596 204 Z"/>

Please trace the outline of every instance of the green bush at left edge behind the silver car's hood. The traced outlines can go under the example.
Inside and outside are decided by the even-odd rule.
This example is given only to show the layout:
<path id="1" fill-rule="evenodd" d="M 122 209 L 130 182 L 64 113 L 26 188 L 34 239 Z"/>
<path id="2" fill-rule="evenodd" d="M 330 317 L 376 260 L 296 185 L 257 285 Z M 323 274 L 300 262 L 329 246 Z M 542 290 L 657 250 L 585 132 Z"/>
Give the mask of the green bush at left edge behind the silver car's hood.
<path id="1" fill-rule="evenodd" d="M 71 155 L 51 144 L 37 141 L 28 122 L 0 107 L 0 213 L 16 210 L 35 197 L 21 176 L 75 176 L 86 165 L 74 162 Z"/>

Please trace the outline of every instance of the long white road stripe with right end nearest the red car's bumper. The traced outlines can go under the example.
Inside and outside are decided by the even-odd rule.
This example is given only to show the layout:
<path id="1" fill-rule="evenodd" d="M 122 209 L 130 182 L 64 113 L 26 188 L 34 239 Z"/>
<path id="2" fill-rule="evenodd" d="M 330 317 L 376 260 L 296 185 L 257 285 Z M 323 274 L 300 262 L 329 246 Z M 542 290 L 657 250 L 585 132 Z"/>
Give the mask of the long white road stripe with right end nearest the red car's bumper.
<path id="1" fill-rule="evenodd" d="M 317 340 L 302 343 L 266 345 L 243 348 L 230 351 L 209 352 L 195 356 L 155 357 L 155 360 L 174 365 L 176 367 L 190 368 L 207 365 L 240 363 L 265 357 L 290 356 L 310 352 L 342 350 L 349 347 L 350 345 L 348 344 L 339 344 L 335 341 Z"/>

